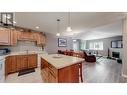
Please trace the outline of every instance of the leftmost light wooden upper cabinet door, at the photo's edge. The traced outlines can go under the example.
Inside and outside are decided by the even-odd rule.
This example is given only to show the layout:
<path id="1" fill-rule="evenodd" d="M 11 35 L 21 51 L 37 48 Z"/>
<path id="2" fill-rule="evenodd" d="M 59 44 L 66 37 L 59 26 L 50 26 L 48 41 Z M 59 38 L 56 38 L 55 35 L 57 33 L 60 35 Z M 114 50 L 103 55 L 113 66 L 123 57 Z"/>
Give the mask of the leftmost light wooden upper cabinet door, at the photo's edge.
<path id="1" fill-rule="evenodd" d="M 10 45 L 9 29 L 0 29 L 0 45 Z"/>

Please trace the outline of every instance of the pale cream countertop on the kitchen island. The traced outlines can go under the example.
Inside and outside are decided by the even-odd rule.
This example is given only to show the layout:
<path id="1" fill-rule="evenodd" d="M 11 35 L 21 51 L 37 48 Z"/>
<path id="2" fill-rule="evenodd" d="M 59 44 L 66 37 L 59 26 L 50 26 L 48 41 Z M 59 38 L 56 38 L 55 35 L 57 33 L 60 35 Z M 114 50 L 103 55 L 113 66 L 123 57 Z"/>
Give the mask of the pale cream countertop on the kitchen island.
<path id="1" fill-rule="evenodd" d="M 53 65 L 56 69 L 61 69 L 66 66 L 70 66 L 84 61 L 83 58 L 66 56 L 61 54 L 42 54 L 41 57 L 45 59 L 49 64 Z"/>

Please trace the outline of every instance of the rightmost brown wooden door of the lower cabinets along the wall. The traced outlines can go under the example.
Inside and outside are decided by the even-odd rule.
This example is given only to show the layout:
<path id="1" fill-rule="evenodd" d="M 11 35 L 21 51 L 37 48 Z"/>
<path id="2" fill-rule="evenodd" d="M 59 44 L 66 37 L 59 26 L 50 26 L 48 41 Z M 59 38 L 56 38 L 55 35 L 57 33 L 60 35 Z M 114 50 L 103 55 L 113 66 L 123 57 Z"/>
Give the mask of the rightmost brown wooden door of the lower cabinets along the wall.
<path id="1" fill-rule="evenodd" d="M 28 68 L 37 67 L 37 54 L 28 55 Z"/>

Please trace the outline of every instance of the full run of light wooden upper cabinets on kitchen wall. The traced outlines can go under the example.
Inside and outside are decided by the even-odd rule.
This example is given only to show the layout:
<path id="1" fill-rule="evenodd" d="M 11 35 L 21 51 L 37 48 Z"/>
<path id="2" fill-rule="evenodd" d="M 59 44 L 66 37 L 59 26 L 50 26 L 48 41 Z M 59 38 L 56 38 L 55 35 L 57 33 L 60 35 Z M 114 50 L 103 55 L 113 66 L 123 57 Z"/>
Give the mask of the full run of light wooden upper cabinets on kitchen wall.
<path id="1" fill-rule="evenodd" d="M 0 30 L 0 45 L 17 45 L 17 40 L 35 41 L 37 46 L 44 46 L 46 37 L 42 32 L 36 31 L 6 28 Z"/>

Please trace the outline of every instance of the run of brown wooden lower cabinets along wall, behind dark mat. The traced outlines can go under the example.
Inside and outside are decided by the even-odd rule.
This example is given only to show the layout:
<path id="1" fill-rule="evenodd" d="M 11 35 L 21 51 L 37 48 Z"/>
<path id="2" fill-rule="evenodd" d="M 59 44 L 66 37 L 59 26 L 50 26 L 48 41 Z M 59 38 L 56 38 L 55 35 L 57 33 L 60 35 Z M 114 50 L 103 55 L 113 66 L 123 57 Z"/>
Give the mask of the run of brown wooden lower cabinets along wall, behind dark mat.
<path id="1" fill-rule="evenodd" d="M 5 75 L 37 67 L 37 54 L 8 56 L 5 60 Z"/>

